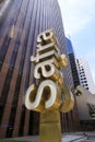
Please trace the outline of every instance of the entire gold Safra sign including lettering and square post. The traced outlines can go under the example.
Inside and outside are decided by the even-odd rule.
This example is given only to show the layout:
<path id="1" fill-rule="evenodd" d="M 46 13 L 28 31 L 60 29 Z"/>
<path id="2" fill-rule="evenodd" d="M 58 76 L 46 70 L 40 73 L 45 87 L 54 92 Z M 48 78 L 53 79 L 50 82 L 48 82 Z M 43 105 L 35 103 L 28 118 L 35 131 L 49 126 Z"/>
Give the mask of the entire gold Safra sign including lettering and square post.
<path id="1" fill-rule="evenodd" d="M 59 44 L 52 29 L 45 31 L 37 37 L 34 78 L 25 96 L 25 106 L 40 113 L 39 142 L 61 142 L 60 111 L 73 109 L 72 93 L 63 83 L 61 69 L 67 67 L 66 55 L 60 54 Z"/>

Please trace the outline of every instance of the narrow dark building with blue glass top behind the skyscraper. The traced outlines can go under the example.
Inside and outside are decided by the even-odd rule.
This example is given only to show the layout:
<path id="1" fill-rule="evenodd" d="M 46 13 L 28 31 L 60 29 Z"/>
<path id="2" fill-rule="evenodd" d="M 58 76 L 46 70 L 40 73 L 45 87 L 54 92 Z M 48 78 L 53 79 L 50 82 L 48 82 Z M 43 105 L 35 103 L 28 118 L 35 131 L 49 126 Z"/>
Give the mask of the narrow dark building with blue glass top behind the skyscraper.
<path id="1" fill-rule="evenodd" d="M 80 80 L 79 80 L 79 74 L 78 74 L 78 69 L 76 69 L 76 63 L 75 63 L 75 54 L 74 54 L 71 40 L 66 37 L 66 42 L 67 42 L 67 49 L 68 49 L 68 55 L 70 59 L 74 87 L 76 87 L 78 85 L 80 85 Z"/>

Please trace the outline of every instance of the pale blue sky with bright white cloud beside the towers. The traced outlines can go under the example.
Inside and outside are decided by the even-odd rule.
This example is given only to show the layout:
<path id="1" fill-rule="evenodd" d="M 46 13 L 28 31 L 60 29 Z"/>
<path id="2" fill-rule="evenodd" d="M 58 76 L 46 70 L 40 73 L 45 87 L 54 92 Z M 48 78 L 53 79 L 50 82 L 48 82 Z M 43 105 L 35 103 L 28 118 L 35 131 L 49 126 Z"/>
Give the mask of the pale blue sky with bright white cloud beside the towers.
<path id="1" fill-rule="evenodd" d="M 95 83 L 95 0 L 58 0 L 66 36 L 76 58 L 84 57 Z"/>

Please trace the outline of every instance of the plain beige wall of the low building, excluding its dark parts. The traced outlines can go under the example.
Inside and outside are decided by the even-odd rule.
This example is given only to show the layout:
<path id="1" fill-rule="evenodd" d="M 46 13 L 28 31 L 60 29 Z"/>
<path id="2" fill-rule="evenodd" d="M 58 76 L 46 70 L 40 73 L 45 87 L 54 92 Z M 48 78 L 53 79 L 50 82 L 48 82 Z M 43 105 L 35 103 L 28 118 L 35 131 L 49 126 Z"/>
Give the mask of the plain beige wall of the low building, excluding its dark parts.
<path id="1" fill-rule="evenodd" d="M 91 119 L 91 116 L 88 113 L 87 104 L 95 105 L 95 95 L 91 94 L 81 85 L 79 85 L 76 90 L 79 90 L 82 93 L 81 95 L 75 95 L 79 117 L 81 120 L 88 120 Z"/>

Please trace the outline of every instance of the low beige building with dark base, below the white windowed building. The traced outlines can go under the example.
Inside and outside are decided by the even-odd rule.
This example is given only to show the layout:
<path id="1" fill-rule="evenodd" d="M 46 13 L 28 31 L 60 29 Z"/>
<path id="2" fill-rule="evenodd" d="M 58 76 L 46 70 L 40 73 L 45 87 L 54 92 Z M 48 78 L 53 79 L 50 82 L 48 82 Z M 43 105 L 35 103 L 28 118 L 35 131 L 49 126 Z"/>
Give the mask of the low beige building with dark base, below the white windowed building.
<path id="1" fill-rule="evenodd" d="M 79 85 L 75 98 L 83 130 L 95 130 L 95 94 Z"/>

